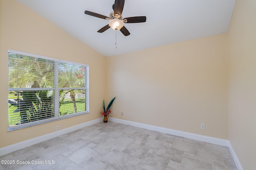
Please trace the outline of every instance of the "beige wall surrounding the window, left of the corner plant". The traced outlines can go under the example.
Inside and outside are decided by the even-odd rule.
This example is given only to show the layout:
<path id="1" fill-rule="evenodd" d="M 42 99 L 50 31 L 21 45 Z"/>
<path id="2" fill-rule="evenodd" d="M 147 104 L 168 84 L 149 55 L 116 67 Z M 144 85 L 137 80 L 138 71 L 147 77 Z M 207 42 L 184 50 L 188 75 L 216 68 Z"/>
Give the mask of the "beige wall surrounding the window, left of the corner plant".
<path id="1" fill-rule="evenodd" d="M 0 148 L 101 117 L 106 94 L 106 58 L 74 37 L 12 0 L 0 0 Z M 90 66 L 90 113 L 7 131 L 8 49 L 44 55 Z"/>

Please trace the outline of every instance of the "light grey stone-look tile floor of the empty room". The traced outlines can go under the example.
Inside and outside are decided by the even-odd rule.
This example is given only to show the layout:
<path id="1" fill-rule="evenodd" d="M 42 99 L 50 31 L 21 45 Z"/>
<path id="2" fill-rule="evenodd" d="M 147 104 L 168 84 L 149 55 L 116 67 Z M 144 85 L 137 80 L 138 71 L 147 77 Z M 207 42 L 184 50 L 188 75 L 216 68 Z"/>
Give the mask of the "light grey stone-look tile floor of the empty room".
<path id="1" fill-rule="evenodd" d="M 0 170 L 236 170 L 228 147 L 111 121 L 17 150 L 0 160 L 14 161 L 0 164 Z"/>

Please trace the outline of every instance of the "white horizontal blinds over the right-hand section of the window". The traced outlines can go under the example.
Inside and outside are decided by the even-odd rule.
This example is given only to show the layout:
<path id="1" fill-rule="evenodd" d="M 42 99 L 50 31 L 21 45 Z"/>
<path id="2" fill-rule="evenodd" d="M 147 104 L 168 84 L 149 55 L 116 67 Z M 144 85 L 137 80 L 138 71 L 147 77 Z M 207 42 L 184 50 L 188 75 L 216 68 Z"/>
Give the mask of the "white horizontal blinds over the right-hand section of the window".
<path id="1" fill-rule="evenodd" d="M 86 111 L 86 66 L 59 63 L 60 115 Z"/>

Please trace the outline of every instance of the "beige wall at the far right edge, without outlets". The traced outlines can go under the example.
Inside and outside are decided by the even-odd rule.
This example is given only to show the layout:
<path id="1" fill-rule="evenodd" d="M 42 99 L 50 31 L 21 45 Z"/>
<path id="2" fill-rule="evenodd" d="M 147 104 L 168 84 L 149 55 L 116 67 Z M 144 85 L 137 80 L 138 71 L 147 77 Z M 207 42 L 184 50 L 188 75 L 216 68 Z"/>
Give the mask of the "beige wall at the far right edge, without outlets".
<path id="1" fill-rule="evenodd" d="M 256 1 L 236 0 L 228 29 L 229 140 L 244 170 L 256 157 Z"/>

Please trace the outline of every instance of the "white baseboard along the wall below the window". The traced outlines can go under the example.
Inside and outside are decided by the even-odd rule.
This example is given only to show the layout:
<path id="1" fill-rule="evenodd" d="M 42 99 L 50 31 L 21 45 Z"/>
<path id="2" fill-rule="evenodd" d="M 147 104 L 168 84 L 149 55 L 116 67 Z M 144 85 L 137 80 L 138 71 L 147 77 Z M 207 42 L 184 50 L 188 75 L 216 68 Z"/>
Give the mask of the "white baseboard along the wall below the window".
<path id="1" fill-rule="evenodd" d="M 94 119 L 92 121 L 88 121 L 88 122 L 85 122 L 85 123 L 74 125 L 72 127 L 61 129 L 61 130 L 56 131 L 56 132 L 48 133 L 46 135 L 42 135 L 42 136 L 39 136 L 39 137 L 28 139 L 26 141 L 15 143 L 13 145 L 9 145 L 7 147 L 0 148 L 0 156 L 2 156 L 4 154 L 8 154 L 10 152 L 14 152 L 16 150 L 19 150 L 19 149 L 22 149 L 22 148 L 25 148 L 25 147 L 29 147 L 31 145 L 34 145 L 34 144 L 37 144 L 37 143 L 40 143 L 40 142 L 43 142 L 43 141 L 46 141 L 48 139 L 52 139 L 54 137 L 58 137 L 58 136 L 63 135 L 65 133 L 69 133 L 69 132 L 75 131 L 77 129 L 81 129 L 81 128 L 86 127 L 86 126 L 93 125 L 95 123 L 99 123 L 101 121 L 102 121 L 102 118 Z"/>

